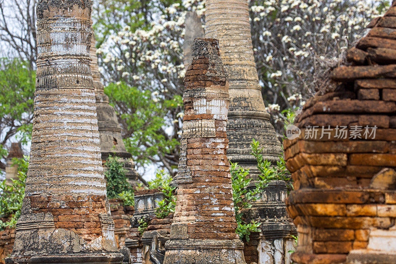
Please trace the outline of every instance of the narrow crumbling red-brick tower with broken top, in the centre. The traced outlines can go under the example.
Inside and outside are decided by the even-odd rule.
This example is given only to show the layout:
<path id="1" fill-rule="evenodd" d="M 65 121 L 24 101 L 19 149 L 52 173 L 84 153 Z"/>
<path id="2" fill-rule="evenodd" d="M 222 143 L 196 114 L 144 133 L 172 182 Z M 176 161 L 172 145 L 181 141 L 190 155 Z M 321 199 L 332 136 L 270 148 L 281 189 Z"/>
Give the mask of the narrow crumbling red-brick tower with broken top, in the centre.
<path id="1" fill-rule="evenodd" d="M 227 73 L 218 41 L 196 39 L 184 79 L 183 177 L 164 264 L 245 264 L 232 197 Z M 183 144 L 182 142 L 182 144 Z M 181 161 L 182 162 L 182 161 Z"/>

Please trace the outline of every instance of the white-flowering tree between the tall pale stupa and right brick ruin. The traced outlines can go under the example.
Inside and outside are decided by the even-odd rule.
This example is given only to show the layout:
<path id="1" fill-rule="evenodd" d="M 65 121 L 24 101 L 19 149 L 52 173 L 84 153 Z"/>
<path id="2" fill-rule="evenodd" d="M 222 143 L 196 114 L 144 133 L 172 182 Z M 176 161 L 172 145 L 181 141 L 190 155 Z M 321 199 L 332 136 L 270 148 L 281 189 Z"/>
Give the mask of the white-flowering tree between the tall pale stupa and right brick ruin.
<path id="1" fill-rule="evenodd" d="M 387 6 L 388 0 L 250 0 L 258 76 L 278 132 Z"/>

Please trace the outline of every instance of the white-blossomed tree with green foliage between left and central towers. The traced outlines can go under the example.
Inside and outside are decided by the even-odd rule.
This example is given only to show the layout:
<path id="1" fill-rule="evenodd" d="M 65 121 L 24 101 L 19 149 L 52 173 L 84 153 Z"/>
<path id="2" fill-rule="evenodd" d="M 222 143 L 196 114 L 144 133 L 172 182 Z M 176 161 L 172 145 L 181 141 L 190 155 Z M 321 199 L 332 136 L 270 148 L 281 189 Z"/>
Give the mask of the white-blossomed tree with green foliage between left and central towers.
<path id="1" fill-rule="evenodd" d="M 102 0 L 95 10 L 100 70 L 127 149 L 138 165 L 153 162 L 174 175 L 183 120 L 186 7 L 181 0 Z"/>

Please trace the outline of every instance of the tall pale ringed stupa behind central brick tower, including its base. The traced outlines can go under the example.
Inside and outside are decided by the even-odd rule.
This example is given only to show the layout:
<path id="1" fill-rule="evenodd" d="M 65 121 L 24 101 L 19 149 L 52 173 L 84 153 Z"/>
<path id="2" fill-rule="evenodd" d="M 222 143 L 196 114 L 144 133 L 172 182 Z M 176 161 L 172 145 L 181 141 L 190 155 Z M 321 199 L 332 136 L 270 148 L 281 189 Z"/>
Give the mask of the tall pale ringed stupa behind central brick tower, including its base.
<path id="1" fill-rule="evenodd" d="M 282 146 L 270 123 L 261 94 L 261 86 L 253 56 L 247 0 L 207 0 L 206 37 L 219 40 L 220 54 L 230 78 L 230 109 L 227 136 L 230 161 L 249 169 L 252 178 L 249 189 L 256 188 L 260 171 L 251 155 L 253 139 L 260 143 L 263 158 L 276 164 Z M 260 198 L 245 211 L 248 221 L 261 223 L 260 232 L 250 237 L 245 258 L 252 263 L 283 263 L 293 248 L 291 236 L 295 226 L 289 221 L 284 202 L 287 188 L 283 181 L 273 181 Z"/>

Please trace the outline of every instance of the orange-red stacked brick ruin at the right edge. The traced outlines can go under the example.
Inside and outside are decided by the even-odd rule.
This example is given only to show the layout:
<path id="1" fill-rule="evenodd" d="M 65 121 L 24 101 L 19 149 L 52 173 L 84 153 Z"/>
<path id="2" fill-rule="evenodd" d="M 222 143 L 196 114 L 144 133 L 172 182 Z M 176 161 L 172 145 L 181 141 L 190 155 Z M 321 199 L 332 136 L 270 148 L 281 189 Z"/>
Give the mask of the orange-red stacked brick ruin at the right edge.
<path id="1" fill-rule="evenodd" d="M 369 27 L 284 143 L 296 263 L 396 263 L 395 3 Z"/>

